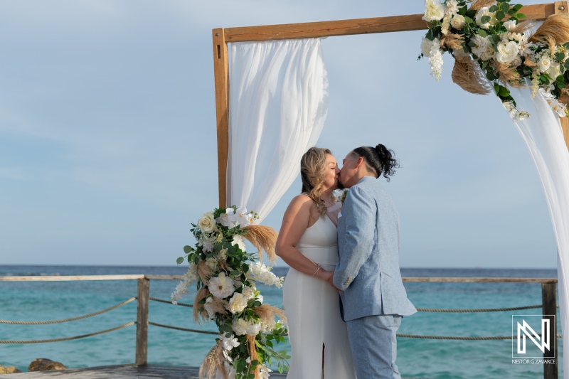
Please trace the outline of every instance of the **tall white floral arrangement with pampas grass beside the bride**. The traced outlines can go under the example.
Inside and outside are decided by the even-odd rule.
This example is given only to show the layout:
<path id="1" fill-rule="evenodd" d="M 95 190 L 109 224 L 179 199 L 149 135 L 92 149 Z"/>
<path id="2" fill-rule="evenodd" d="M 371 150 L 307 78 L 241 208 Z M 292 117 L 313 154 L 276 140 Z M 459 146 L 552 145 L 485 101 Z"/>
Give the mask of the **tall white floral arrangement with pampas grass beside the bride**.
<path id="1" fill-rule="evenodd" d="M 254 225 L 258 215 L 235 206 L 204 213 L 191 232 L 198 241 L 195 247 L 184 246 L 189 267 L 171 295 L 172 302 L 188 292 L 196 283 L 198 290 L 193 302 L 196 321 L 216 322 L 220 337 L 204 359 L 200 378 L 213 378 L 219 372 L 225 379 L 269 378 L 273 360 L 279 371 L 287 370 L 287 351 L 275 351 L 274 343 L 285 341 L 287 328 L 275 316 L 286 321 L 284 311 L 263 304 L 255 283 L 282 287 L 277 277 L 255 256 L 246 251 L 245 239 L 258 251 L 262 250 L 275 261 L 277 232 L 272 228 Z"/>

